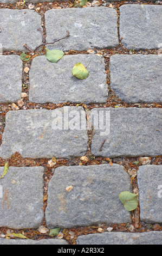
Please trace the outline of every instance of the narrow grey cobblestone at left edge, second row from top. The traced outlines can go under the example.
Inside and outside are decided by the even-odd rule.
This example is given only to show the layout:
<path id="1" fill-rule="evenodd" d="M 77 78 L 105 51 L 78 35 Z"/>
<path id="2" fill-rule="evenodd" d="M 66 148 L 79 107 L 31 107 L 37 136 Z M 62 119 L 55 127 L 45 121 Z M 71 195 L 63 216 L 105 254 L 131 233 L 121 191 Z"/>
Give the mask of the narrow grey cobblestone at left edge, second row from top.
<path id="1" fill-rule="evenodd" d="M 21 92 L 22 60 L 20 56 L 0 55 L 0 103 L 20 100 Z"/>

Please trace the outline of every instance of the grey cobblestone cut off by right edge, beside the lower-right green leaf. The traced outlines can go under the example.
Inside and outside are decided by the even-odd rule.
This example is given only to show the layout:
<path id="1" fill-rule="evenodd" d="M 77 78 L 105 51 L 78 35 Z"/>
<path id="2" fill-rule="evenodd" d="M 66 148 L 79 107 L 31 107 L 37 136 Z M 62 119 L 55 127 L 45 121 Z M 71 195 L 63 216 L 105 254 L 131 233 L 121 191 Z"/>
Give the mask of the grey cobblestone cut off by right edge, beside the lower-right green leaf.
<path id="1" fill-rule="evenodd" d="M 140 166 L 137 180 L 140 220 L 146 223 L 162 223 L 162 166 Z"/>

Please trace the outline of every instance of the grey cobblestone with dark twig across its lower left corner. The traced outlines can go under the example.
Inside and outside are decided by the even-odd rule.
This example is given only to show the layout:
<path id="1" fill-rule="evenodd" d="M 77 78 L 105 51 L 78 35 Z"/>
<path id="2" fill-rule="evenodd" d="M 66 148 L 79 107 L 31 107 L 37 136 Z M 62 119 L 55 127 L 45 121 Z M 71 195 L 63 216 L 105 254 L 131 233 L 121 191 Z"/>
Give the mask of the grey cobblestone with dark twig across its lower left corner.
<path id="1" fill-rule="evenodd" d="M 70 19 L 69 19 L 70 17 Z M 63 51 L 111 48 L 119 44 L 116 11 L 107 7 L 48 10 L 45 14 L 47 42 L 70 36 L 50 48 Z"/>

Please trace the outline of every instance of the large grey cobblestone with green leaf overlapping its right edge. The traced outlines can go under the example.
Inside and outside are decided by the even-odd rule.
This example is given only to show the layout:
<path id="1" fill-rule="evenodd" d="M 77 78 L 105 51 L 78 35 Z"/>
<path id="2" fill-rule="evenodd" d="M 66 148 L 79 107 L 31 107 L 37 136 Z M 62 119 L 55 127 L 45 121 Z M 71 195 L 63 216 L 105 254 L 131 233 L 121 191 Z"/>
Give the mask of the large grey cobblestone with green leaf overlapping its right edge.
<path id="1" fill-rule="evenodd" d="M 71 185 L 73 190 L 67 192 Z M 119 200 L 122 191 L 132 188 L 129 175 L 119 164 L 56 168 L 48 188 L 47 226 L 131 222 Z"/>

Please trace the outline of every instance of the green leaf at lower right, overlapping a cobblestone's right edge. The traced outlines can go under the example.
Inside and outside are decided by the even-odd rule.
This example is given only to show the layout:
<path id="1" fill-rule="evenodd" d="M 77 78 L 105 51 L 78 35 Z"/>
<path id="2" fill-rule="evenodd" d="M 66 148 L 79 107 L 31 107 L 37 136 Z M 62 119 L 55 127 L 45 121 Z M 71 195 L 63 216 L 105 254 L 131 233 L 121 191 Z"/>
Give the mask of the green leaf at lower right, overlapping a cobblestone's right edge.
<path id="1" fill-rule="evenodd" d="M 127 211 L 133 211 L 137 208 L 138 206 L 137 197 L 138 197 L 137 194 L 133 194 L 129 191 L 124 191 L 119 194 L 119 199 Z"/>

